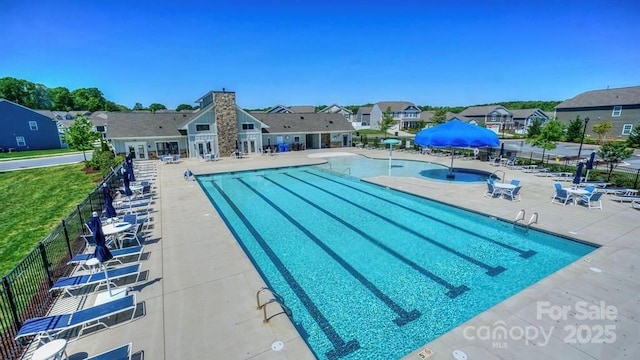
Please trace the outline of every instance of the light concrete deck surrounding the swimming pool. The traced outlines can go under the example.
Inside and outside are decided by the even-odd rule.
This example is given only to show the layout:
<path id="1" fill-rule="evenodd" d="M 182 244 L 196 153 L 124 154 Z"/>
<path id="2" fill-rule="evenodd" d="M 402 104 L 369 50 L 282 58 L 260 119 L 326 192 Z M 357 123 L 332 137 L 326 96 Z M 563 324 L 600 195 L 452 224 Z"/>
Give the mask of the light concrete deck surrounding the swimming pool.
<path id="1" fill-rule="evenodd" d="M 185 181 L 189 168 L 196 175 L 271 168 L 324 162 L 308 155 L 322 152 L 353 152 L 387 158 L 384 150 L 325 149 L 290 152 L 275 156 L 243 159 L 223 158 L 215 162 L 183 159 L 178 164 L 155 161 L 158 177 L 153 205 L 152 234 L 147 238 L 148 258 L 141 262 L 147 276 L 135 287 L 145 313 L 131 323 L 81 337 L 71 342 L 67 353 L 94 355 L 121 344 L 133 343 L 133 350 L 144 351 L 145 359 L 313 359 L 314 354 L 286 316 L 263 323 L 256 308 L 256 292 L 264 282 L 223 220 L 218 216 L 197 182 Z M 394 158 L 416 159 L 449 164 L 448 157 L 394 152 Z M 450 184 L 407 177 L 375 177 L 368 181 L 414 193 L 438 201 L 513 220 L 520 209 L 527 219 L 537 212 L 534 227 L 601 245 L 588 256 L 542 279 L 511 298 L 497 304 L 429 344 L 408 354 L 406 359 L 421 359 L 420 352 L 430 348 L 431 359 L 452 359 L 456 349 L 469 359 L 585 359 L 632 358 L 640 351 L 640 211 L 628 203 L 617 203 L 603 196 L 602 210 L 550 203 L 553 181 L 520 170 L 496 168 L 480 161 L 456 160 L 456 167 L 505 171 L 507 180 L 521 180 L 522 201 L 488 199 L 485 184 Z M 268 299 L 263 293 L 261 299 Z M 576 320 L 579 302 L 614 306 L 614 320 Z M 566 320 L 537 314 L 537 302 L 553 307 L 570 307 Z M 273 305 L 273 306 L 272 306 Z M 555 309 L 555 308 L 554 308 Z M 271 304 L 270 314 L 278 306 Z M 601 325 L 613 325 L 616 340 L 612 344 L 569 344 L 565 326 L 588 326 L 597 332 Z M 480 339 L 468 329 L 500 326 L 507 329 L 532 329 L 548 333 L 548 343 L 540 335 L 528 344 L 516 340 Z M 466 332 L 465 332 L 466 329 Z M 586 331 L 586 330 L 585 330 Z M 611 331 L 609 331 L 610 333 Z M 513 335 L 518 335 L 514 333 Z M 603 339 L 607 337 L 601 334 Z M 474 337 L 475 339 L 470 339 Z M 586 332 L 580 338 L 582 340 Z M 595 334 L 593 334 L 595 336 Z M 276 341 L 281 351 L 272 349 Z M 544 345 L 543 345 L 544 344 Z M 75 354 L 75 355 L 74 355 Z"/>

